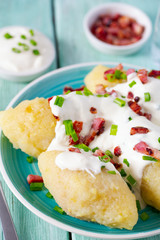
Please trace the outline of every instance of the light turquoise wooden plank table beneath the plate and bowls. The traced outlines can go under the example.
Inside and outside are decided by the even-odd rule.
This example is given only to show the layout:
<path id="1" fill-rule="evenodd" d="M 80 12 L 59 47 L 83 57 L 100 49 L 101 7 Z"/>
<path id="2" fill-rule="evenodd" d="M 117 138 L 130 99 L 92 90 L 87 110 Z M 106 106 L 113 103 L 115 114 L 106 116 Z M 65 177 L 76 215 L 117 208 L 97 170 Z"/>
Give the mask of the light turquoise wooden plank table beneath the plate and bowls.
<path id="1" fill-rule="evenodd" d="M 117 0 L 118 1 L 118 0 Z M 57 56 L 50 68 L 91 62 L 110 61 L 136 64 L 154 68 L 151 57 L 151 41 L 138 53 L 130 56 L 111 56 L 98 52 L 87 41 L 83 31 L 83 17 L 91 8 L 108 0 L 1 0 L 0 28 L 8 25 L 24 25 L 37 29 L 55 44 Z M 113 2 L 113 1 L 112 1 Z M 115 2 L 115 1 L 114 1 Z M 155 22 L 159 0 L 123 0 L 143 10 Z M 25 86 L 0 79 L 0 110 L 5 109 L 10 100 Z M 20 240 L 91 240 L 61 230 L 35 216 L 12 194 L 2 176 L 5 196 Z M 4 239 L 0 225 L 0 240 Z M 146 239 L 146 238 L 145 238 Z M 159 236 L 147 238 L 158 240 Z M 12 240 L 12 239 L 11 239 Z"/>

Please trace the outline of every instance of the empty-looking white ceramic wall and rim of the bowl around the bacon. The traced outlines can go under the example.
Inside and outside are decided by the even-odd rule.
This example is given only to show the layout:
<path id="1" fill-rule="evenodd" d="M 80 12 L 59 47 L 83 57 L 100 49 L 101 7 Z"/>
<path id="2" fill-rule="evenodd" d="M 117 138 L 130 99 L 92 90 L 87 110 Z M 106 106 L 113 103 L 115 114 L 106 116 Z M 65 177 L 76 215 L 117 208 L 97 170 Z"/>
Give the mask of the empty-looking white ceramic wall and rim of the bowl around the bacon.
<path id="1" fill-rule="evenodd" d="M 136 43 L 126 45 L 126 46 L 115 46 L 112 44 L 105 43 L 99 40 L 98 38 L 96 38 L 91 33 L 90 28 L 92 24 L 95 22 L 95 20 L 97 19 L 97 17 L 105 13 L 109 13 L 109 14 L 120 13 L 122 15 L 126 15 L 134 18 L 138 23 L 140 23 L 145 27 L 142 38 Z M 116 3 L 116 2 L 102 4 L 91 9 L 84 18 L 83 26 L 84 26 L 85 34 L 89 42 L 93 45 L 93 47 L 95 47 L 96 49 L 98 49 L 103 53 L 115 54 L 115 55 L 127 55 L 127 54 L 132 54 L 138 51 L 149 39 L 152 32 L 151 21 L 144 12 L 142 12 L 140 9 L 133 7 L 131 5 L 124 4 L 124 3 Z"/>

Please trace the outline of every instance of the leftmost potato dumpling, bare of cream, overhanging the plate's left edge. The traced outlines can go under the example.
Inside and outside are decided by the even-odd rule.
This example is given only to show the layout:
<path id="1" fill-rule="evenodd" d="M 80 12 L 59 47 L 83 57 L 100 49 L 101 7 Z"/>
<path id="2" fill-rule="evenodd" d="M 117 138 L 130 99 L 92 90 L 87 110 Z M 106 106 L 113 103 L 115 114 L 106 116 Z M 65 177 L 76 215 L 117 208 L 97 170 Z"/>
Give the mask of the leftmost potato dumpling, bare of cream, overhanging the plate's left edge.
<path id="1" fill-rule="evenodd" d="M 38 157 L 45 151 L 55 135 L 56 120 L 48 100 L 25 100 L 14 109 L 0 113 L 0 126 L 4 135 L 25 153 Z"/>

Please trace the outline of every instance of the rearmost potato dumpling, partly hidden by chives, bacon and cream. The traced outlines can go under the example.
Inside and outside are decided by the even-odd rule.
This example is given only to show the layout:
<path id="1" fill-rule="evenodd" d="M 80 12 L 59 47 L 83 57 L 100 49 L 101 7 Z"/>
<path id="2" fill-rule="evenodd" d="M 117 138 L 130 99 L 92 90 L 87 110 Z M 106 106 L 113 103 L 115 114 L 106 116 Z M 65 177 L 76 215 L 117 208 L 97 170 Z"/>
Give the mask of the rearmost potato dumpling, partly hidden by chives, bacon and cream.
<path id="1" fill-rule="evenodd" d="M 96 66 L 84 79 L 86 87 L 93 93 L 96 93 L 96 85 L 103 84 L 104 87 L 114 87 L 118 83 L 121 83 L 120 80 L 115 80 L 114 82 L 109 82 L 104 79 L 104 72 L 109 68 L 103 65 Z M 124 80 L 123 80 L 124 82 Z"/>

